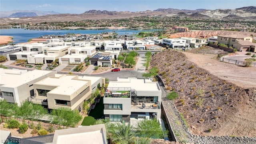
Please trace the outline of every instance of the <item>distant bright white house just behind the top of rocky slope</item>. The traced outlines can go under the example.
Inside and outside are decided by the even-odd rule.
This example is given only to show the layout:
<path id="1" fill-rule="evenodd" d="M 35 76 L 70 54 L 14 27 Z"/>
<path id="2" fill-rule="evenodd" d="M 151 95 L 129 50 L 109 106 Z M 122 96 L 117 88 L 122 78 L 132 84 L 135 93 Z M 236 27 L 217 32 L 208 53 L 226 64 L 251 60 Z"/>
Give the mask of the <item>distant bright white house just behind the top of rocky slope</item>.
<path id="1" fill-rule="evenodd" d="M 163 38 L 162 44 L 169 45 L 170 48 L 182 48 L 186 46 L 186 40 L 180 38 Z"/>

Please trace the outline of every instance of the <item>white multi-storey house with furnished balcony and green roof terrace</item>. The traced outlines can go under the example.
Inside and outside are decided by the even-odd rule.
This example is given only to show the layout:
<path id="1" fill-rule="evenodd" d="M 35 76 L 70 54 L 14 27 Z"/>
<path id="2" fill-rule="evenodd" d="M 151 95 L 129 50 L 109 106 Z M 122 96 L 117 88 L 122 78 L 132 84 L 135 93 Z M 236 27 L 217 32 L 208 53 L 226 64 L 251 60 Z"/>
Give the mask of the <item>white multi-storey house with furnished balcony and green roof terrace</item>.
<path id="1" fill-rule="evenodd" d="M 104 116 L 112 122 L 161 118 L 161 89 L 150 79 L 117 78 L 104 95 Z"/>

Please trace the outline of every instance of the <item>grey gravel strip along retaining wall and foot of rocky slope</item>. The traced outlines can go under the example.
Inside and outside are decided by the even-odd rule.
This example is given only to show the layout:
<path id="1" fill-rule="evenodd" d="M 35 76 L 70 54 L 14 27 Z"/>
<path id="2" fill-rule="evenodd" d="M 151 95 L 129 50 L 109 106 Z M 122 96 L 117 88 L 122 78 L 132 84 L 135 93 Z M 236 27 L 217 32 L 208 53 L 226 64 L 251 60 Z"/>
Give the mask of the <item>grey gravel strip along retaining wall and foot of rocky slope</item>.
<path id="1" fill-rule="evenodd" d="M 188 126 L 182 121 L 173 101 L 166 99 L 167 92 L 163 86 L 161 86 L 161 90 L 162 104 L 166 109 L 166 115 L 179 142 L 194 144 L 256 144 L 255 137 L 198 136 L 191 134 L 189 128 L 187 128 Z"/>

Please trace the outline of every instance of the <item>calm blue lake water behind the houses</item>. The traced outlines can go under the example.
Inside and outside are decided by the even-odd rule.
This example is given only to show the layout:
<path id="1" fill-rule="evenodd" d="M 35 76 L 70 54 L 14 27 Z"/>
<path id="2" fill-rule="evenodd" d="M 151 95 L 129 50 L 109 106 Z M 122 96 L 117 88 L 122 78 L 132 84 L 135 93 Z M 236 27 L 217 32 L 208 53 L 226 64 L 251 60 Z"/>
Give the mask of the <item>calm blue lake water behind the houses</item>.
<path id="1" fill-rule="evenodd" d="M 39 38 L 43 35 L 63 35 L 67 33 L 71 34 L 101 34 L 102 32 L 113 32 L 115 31 L 119 35 L 126 34 L 138 34 L 142 31 L 152 30 L 117 30 L 117 29 L 100 29 L 100 30 L 25 30 L 23 28 L 10 28 L 0 29 L 0 36 L 13 36 L 14 43 L 28 42 L 30 38 Z"/>

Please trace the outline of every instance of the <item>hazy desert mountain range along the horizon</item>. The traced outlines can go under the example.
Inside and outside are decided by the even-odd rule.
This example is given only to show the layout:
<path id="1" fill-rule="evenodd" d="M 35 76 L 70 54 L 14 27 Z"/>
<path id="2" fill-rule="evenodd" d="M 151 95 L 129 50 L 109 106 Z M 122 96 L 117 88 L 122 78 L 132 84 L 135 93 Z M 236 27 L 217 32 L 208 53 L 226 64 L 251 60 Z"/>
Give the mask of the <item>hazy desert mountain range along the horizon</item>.
<path id="1" fill-rule="evenodd" d="M 46 22 L 56 21 L 77 21 L 81 19 L 99 20 L 99 19 L 120 19 L 120 18 L 132 18 L 140 16 L 150 17 L 180 17 L 180 18 L 203 18 L 203 19 L 222 19 L 222 20 L 256 20 L 256 6 L 248 6 L 242 8 L 230 9 L 216 9 L 216 10 L 179 10 L 173 8 L 159 8 L 157 10 L 146 10 L 142 12 L 116 12 L 106 10 L 89 10 L 82 14 L 59 14 L 57 12 L 42 12 L 42 11 L 19 11 L 14 10 L 10 12 L 0 12 L 0 18 L 5 22 L 27 22 L 29 17 L 33 17 L 33 20 L 43 20 Z M 32 21 L 33 21 L 32 20 Z M 31 21 L 31 18 L 30 18 Z"/>

